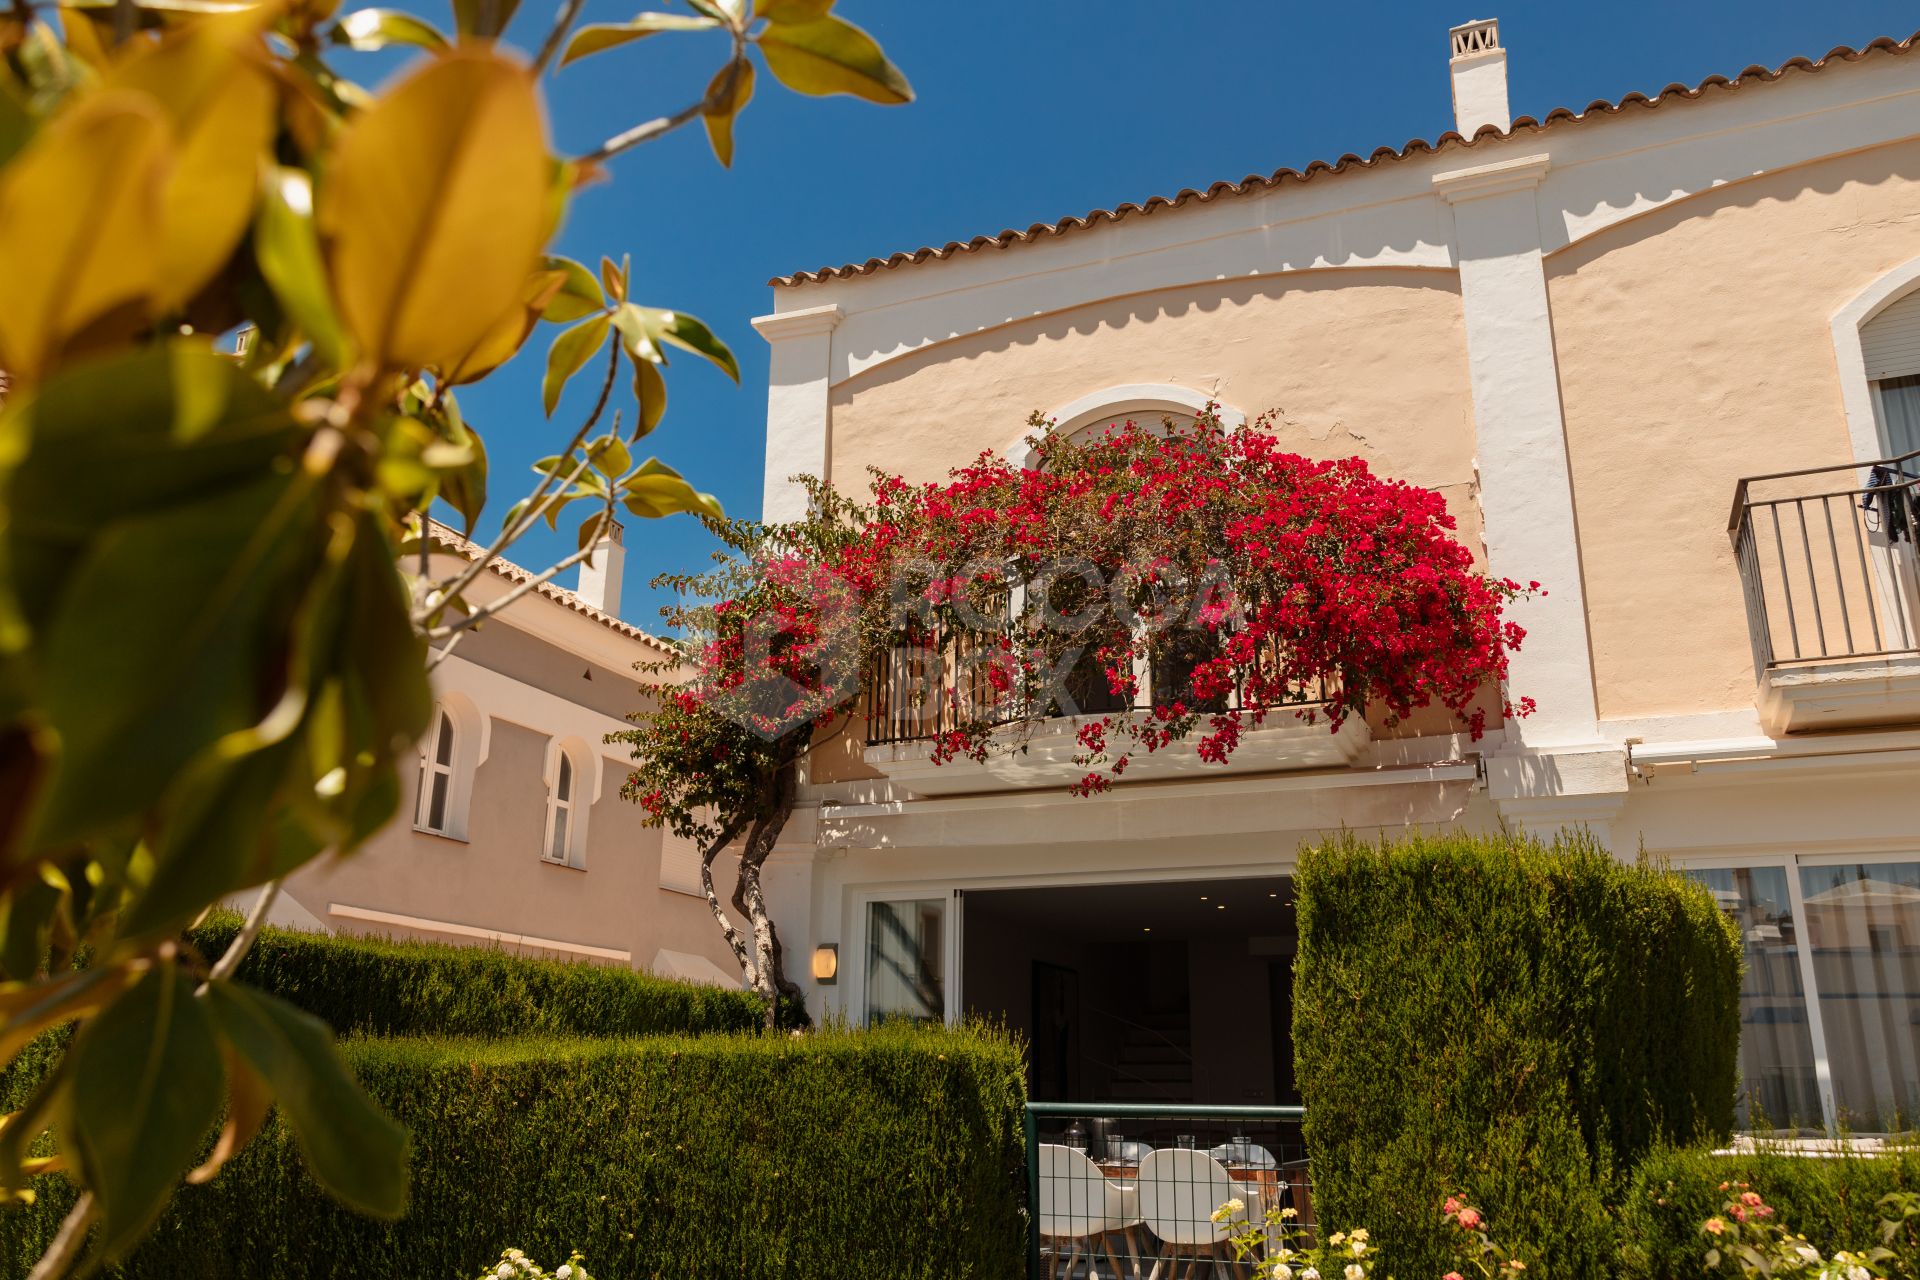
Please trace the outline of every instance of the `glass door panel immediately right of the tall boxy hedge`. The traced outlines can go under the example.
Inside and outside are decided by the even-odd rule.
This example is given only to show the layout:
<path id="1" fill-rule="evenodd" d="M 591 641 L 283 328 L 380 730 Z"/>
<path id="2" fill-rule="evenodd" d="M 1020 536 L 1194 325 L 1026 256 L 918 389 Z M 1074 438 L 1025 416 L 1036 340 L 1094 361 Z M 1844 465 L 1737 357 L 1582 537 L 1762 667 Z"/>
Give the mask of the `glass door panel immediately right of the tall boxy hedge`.
<path id="1" fill-rule="evenodd" d="M 1812 1029 L 1788 867 L 1690 871 L 1740 925 L 1747 973 L 1740 988 L 1738 1125 L 1822 1130 Z"/>

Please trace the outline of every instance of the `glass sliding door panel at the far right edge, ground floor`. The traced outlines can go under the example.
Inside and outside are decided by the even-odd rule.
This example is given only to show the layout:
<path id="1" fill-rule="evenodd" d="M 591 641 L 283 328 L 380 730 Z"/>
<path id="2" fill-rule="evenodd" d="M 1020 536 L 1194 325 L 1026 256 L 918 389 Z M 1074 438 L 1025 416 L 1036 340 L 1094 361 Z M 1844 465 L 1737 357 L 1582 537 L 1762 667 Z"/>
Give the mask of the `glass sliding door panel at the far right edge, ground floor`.
<path id="1" fill-rule="evenodd" d="M 1801 865 L 1836 1117 L 1887 1132 L 1920 1117 L 1920 862 Z"/>

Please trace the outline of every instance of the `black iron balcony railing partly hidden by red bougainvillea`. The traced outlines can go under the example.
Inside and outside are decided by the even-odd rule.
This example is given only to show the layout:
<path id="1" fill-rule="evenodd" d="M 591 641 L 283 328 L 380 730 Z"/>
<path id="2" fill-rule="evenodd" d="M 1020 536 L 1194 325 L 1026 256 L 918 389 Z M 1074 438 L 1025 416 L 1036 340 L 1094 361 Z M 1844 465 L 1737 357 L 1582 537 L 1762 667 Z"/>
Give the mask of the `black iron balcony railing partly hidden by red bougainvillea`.
<path id="1" fill-rule="evenodd" d="M 933 628 L 902 637 L 864 674 L 866 741 L 868 747 L 925 743 L 975 722 L 1006 725 L 1054 716 L 1144 712 L 1173 700 L 1202 710 L 1227 710 L 1238 704 L 1238 689 L 1212 700 L 1196 700 L 1190 689 L 1192 670 L 1213 654 L 1213 643 L 1204 631 L 1167 637 L 1156 647 L 1154 660 L 1137 668 L 1139 693 L 1131 706 L 1125 697 L 1114 693 L 1091 649 L 1071 656 L 1060 654 L 1056 687 L 1039 695 L 1044 706 L 1033 706 L 1031 691 L 995 685 L 991 668 L 1002 652 L 998 635 Z M 1327 702 L 1329 697 L 1329 687 L 1321 683 L 1309 689 L 1300 704 Z"/>

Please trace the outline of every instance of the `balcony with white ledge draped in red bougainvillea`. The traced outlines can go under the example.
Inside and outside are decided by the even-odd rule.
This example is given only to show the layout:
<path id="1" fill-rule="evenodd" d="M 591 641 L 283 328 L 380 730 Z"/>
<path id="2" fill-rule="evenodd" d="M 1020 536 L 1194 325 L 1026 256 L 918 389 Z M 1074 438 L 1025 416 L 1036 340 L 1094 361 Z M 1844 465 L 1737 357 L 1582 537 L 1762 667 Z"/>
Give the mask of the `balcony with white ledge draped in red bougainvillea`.
<path id="1" fill-rule="evenodd" d="M 1185 679 L 1192 670 L 1192 656 L 1177 651 L 1158 662 L 1137 664 L 1140 697 L 1129 708 L 1092 662 L 1081 662 L 1060 681 L 1046 714 L 1031 716 L 1018 695 L 996 693 L 987 679 L 985 658 L 991 647 L 991 635 L 937 629 L 925 637 L 902 639 L 866 672 L 866 764 L 918 794 L 1069 787 L 1087 773 L 1087 766 L 1073 762 L 1081 750 L 1081 725 L 1116 712 L 1146 714 L 1156 699 L 1185 697 Z M 1236 702 L 1236 695 L 1229 695 L 1219 710 Z M 1317 712 L 1325 704 L 1327 691 L 1315 689 L 1313 697 L 1302 699 L 1300 708 Z M 987 760 L 933 764 L 933 743 L 975 720 L 998 725 Z M 1359 716 L 1348 718 L 1332 733 L 1323 718 L 1309 723 L 1286 712 L 1269 712 L 1260 729 L 1240 735 L 1227 764 L 1200 760 L 1192 739 L 1152 754 L 1135 752 L 1125 781 L 1165 781 L 1221 770 L 1261 773 L 1338 768 L 1365 750 L 1371 733 Z"/>

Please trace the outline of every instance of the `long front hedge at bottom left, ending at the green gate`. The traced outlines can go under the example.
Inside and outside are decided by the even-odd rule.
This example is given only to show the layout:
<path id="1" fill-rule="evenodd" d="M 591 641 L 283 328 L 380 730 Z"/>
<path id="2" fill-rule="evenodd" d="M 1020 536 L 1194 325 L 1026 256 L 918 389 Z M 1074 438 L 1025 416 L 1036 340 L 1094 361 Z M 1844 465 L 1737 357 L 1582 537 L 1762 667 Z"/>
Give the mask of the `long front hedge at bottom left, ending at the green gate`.
<path id="1" fill-rule="evenodd" d="M 578 1247 L 620 1280 L 1023 1274 L 1025 1086 L 1020 1048 L 996 1032 L 355 1040 L 346 1054 L 413 1132 L 401 1221 L 334 1205 L 269 1125 L 211 1184 L 180 1190 L 123 1274 L 459 1280 L 507 1245 L 549 1267 Z M 10 1263 L 69 1203 L 40 1182 L 33 1240 Z"/>

